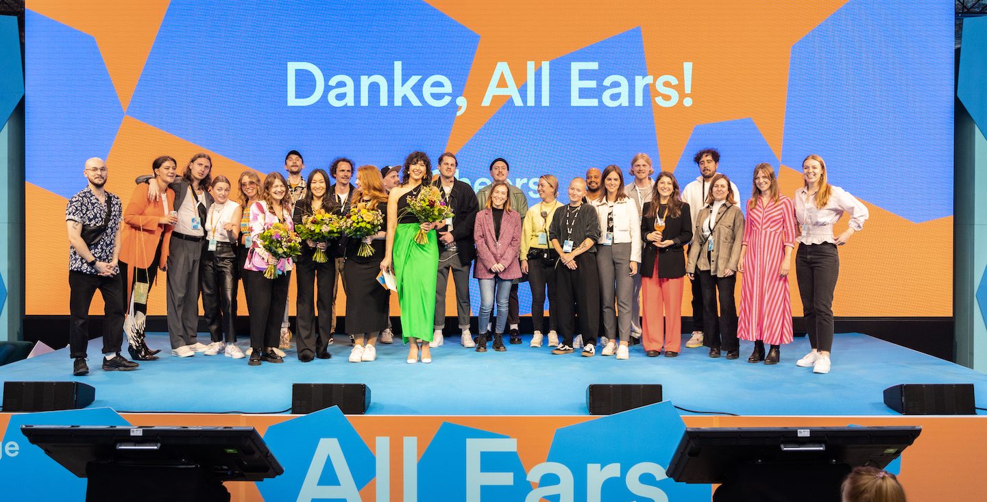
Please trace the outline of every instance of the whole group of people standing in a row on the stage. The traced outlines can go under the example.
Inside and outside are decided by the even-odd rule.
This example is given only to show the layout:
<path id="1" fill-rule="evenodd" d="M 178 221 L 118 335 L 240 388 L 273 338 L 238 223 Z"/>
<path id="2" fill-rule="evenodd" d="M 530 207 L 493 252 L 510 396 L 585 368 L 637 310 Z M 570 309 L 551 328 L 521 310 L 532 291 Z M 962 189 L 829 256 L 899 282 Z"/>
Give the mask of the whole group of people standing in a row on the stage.
<path id="1" fill-rule="evenodd" d="M 106 164 L 90 159 L 84 171 L 88 186 L 66 207 L 74 373 L 88 373 L 87 319 L 97 289 L 106 303 L 103 369 L 137 367 L 119 354 L 122 333 L 132 359 L 157 359 L 144 328 L 159 269 L 167 272 L 168 330 L 171 353 L 178 357 L 202 352 L 249 355 L 252 366 L 282 362 L 281 348 L 291 336 L 288 286 L 297 270 L 295 339 L 302 362 L 331 357 L 327 347 L 341 280 L 345 327 L 353 340 L 348 360 L 375 360 L 377 342 L 390 343 L 393 336 L 390 291 L 382 286 L 382 277 L 391 274 L 408 363 L 431 362 L 430 348 L 444 343 L 451 272 L 460 343 L 478 352 L 488 345 L 506 350 L 504 336 L 510 344 L 521 343 L 517 285 L 527 277 L 531 346 L 547 341 L 553 354 L 581 347 L 581 355 L 593 356 L 599 337 L 602 355 L 628 359 L 632 337 L 640 337 L 647 356 L 663 351 L 675 357 L 688 276 L 695 330 L 686 347 L 705 345 L 710 357 L 725 351 L 726 359 L 736 359 L 738 339 L 745 339 L 755 342 L 748 362 L 776 364 L 781 345 L 793 338 L 788 275 L 796 243 L 797 283 L 812 346 L 797 365 L 827 373 L 836 247 L 862 229 L 867 208 L 829 184 L 825 163 L 810 155 L 802 163 L 804 182 L 795 201 L 779 193 L 769 164 L 757 165 L 744 216 L 736 185 L 718 173 L 719 152 L 705 149 L 694 160 L 700 176 L 683 189 L 670 172 L 652 179 L 646 154 L 632 159 L 630 183 L 617 166 L 590 169 L 585 179 L 569 181 L 568 204 L 558 200 L 559 179 L 544 175 L 538 179 L 540 201 L 529 208 L 525 194 L 508 181 L 510 166 L 502 158 L 490 164 L 493 182 L 474 192 L 456 179 L 458 160 L 450 152 L 439 156 L 434 178 L 428 156 L 413 152 L 403 166 L 359 167 L 354 185 L 352 161 L 337 159 L 328 173 L 315 169 L 303 179 L 302 156 L 291 151 L 286 179 L 245 171 L 233 199 L 234 183 L 211 176 L 208 155 L 193 156 L 181 176 L 177 161 L 163 156 L 152 163 L 151 176 L 136 179 L 124 208 L 104 189 Z M 429 193 L 437 193 L 451 216 L 421 220 L 411 206 Z M 354 204 L 380 212 L 383 224 L 376 234 L 306 240 L 300 254 L 290 256 L 268 252 L 260 243 L 271 229 L 291 232 L 314 214 L 345 215 Z M 833 224 L 845 212 L 849 229 L 834 236 Z M 481 292 L 476 335 L 470 331 L 471 268 Z M 744 276 L 739 315 L 733 300 L 737 273 Z M 239 281 L 250 313 L 247 354 L 234 343 Z M 199 296 L 208 344 L 196 337 Z"/>

